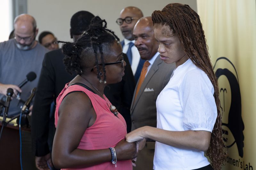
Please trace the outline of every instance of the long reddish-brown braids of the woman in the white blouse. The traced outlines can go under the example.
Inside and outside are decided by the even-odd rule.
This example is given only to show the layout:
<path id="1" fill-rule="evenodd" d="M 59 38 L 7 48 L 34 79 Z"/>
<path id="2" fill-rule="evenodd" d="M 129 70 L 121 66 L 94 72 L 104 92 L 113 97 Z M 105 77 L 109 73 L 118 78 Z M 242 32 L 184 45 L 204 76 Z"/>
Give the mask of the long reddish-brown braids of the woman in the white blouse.
<path id="1" fill-rule="evenodd" d="M 188 5 L 168 4 L 162 11 L 152 13 L 153 24 L 168 25 L 176 33 L 191 61 L 203 70 L 214 87 L 214 99 L 217 105 L 217 119 L 212 130 L 210 146 L 207 150 L 214 169 L 219 170 L 223 164 L 226 153 L 223 152 L 221 113 L 218 81 L 215 77 L 210 55 L 206 45 L 204 30 L 199 15 Z"/>

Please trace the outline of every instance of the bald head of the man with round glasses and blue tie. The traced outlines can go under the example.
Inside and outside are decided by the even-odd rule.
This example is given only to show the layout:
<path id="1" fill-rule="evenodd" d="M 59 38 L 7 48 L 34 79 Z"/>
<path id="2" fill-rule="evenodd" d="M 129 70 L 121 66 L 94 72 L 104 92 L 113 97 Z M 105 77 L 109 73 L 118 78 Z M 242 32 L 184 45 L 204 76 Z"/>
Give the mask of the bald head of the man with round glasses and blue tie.
<path id="1" fill-rule="evenodd" d="M 120 12 L 120 16 L 118 19 L 123 20 L 123 23 L 119 26 L 124 38 L 130 41 L 134 40 L 132 36 L 133 28 L 138 19 L 140 19 L 141 17 L 143 17 L 142 11 L 134 6 L 128 6 Z M 128 19 L 125 20 L 125 18 Z M 129 22 L 127 23 L 127 21 Z"/>

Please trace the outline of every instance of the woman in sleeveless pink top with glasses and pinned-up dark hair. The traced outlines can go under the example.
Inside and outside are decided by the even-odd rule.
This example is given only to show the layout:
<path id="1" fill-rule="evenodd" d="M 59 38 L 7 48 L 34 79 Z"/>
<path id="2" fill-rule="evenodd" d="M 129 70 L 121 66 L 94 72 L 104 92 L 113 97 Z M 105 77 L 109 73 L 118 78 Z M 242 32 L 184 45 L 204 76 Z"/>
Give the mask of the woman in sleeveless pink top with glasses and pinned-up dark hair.
<path id="1" fill-rule="evenodd" d="M 62 169 L 132 170 L 136 143 L 124 140 L 126 123 L 103 93 L 120 82 L 126 65 L 114 32 L 100 17 L 76 42 L 63 42 L 64 64 L 78 75 L 57 98 L 52 161 Z"/>

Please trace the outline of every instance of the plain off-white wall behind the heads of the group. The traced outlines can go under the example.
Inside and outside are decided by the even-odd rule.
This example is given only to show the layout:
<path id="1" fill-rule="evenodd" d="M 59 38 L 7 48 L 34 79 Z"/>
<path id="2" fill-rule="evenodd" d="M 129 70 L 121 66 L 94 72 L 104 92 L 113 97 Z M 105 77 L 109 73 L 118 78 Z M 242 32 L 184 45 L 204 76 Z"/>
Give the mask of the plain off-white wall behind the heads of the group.
<path id="1" fill-rule="evenodd" d="M 165 5 L 174 2 L 188 4 L 197 11 L 196 0 L 27 0 L 27 9 L 28 14 L 36 18 L 39 33 L 52 31 L 62 41 L 72 41 L 69 36 L 70 18 L 81 10 L 90 11 L 106 19 L 108 28 L 122 40 L 116 18 L 124 7 L 136 6 L 142 10 L 144 16 L 151 16 L 154 10 L 162 10 Z"/>

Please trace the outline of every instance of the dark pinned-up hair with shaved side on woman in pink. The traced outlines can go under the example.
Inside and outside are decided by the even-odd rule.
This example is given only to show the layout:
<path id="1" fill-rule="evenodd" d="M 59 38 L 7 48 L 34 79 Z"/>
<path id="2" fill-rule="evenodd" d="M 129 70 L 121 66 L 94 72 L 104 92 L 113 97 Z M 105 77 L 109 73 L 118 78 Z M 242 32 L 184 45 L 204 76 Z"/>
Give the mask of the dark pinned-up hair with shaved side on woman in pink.
<path id="1" fill-rule="evenodd" d="M 92 70 L 93 66 L 97 66 L 97 77 L 100 82 L 106 84 L 106 70 L 104 64 L 104 55 L 111 50 L 111 45 L 119 43 L 116 34 L 107 29 L 107 22 L 99 16 L 92 18 L 89 28 L 84 31 L 76 42 L 57 41 L 64 43 L 62 52 L 65 55 L 63 61 L 68 73 L 76 72 L 82 75 L 83 70 Z M 99 64 L 102 63 L 104 78 L 100 77 Z"/>

